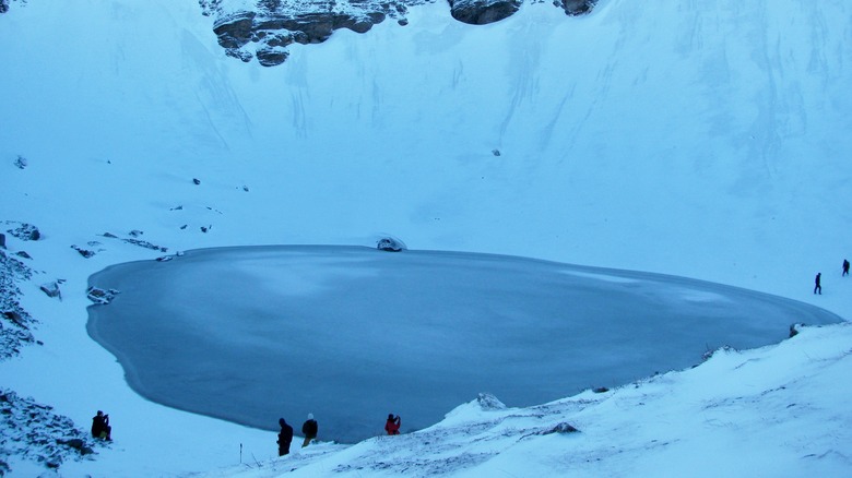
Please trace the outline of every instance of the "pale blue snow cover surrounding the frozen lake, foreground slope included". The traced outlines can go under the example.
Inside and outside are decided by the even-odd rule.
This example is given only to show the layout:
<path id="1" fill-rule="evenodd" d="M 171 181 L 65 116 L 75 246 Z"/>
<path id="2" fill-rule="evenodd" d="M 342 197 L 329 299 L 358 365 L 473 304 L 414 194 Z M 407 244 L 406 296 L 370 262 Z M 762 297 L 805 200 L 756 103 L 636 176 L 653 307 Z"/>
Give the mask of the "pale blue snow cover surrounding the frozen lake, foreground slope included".
<path id="1" fill-rule="evenodd" d="M 528 3 L 471 26 L 434 3 L 411 8 L 404 28 L 292 45 L 267 69 L 226 57 L 193 0 L 12 1 L 0 14 L 0 232 L 32 271 L 14 284 L 42 344 L 0 362 L 0 387 L 81 429 L 110 414 L 116 442 L 68 459 L 67 476 L 240 459 L 256 476 L 849 475 L 844 325 L 638 387 L 529 409 L 469 404 L 399 441 L 268 463 L 273 433 L 132 392 L 86 334 L 85 290 L 91 274 L 163 248 L 391 234 L 411 249 L 718 282 L 849 319 L 851 10 L 601 0 L 585 16 Z M 40 238 L 9 232 L 22 224 Z M 61 297 L 39 290 L 52 283 Z M 526 438 L 561 422 L 581 432 Z M 9 465 L 44 470 L 22 455 Z"/>

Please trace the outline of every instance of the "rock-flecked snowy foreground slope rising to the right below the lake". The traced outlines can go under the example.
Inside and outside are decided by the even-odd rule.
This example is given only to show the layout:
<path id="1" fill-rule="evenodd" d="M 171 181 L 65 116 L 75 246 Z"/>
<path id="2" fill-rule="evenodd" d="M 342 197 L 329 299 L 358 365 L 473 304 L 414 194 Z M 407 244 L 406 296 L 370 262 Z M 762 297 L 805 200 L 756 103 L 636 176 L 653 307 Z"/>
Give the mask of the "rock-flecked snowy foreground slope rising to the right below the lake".
<path id="1" fill-rule="evenodd" d="M 485 397 L 416 433 L 208 476 L 845 476 L 851 342 L 848 324 L 805 330 L 606 393 L 523 409 Z"/>

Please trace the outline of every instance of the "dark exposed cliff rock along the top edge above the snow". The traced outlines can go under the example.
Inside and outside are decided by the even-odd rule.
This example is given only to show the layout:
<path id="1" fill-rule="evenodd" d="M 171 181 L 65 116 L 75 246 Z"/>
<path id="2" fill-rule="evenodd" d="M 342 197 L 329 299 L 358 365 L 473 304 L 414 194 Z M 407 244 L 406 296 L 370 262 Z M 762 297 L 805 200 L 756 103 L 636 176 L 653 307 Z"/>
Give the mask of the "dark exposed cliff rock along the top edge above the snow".
<path id="1" fill-rule="evenodd" d="M 0 0 L 2 1 L 2 0 Z M 287 46 L 317 44 L 339 28 L 367 33 L 388 19 L 406 25 L 410 7 L 442 0 L 199 0 L 228 56 L 242 61 L 257 58 L 264 67 L 283 63 Z M 524 0 L 447 0 L 452 17 L 473 25 L 511 16 Z M 536 0 L 533 0 L 536 1 Z M 541 0 L 537 0 L 541 1 Z M 592 10 L 597 0 L 556 0 L 568 15 Z M 246 5 L 251 5 L 246 8 Z"/>

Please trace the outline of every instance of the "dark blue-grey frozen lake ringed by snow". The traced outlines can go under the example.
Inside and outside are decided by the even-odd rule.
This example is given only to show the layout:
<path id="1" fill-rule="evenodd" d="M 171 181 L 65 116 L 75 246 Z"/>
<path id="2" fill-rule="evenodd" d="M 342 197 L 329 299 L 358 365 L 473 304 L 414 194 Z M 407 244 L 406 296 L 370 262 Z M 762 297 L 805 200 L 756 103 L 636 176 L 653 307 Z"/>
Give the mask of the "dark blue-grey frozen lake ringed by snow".
<path id="1" fill-rule="evenodd" d="M 529 406 L 686 368 L 723 345 L 840 322 L 802 302 L 658 274 L 363 247 L 241 247 L 108 267 L 88 333 L 141 395 L 276 430 L 308 413 L 352 443 L 480 392 Z M 298 430 L 297 430 L 298 431 Z"/>

